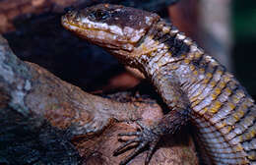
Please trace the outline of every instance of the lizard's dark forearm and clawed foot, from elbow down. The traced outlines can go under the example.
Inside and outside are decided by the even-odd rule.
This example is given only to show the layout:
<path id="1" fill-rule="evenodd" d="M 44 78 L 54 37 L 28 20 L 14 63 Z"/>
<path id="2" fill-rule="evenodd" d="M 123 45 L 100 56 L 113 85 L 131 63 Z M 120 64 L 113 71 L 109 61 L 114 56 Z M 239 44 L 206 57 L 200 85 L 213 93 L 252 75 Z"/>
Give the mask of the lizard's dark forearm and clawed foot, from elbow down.
<path id="1" fill-rule="evenodd" d="M 124 165 L 129 162 L 134 156 L 138 155 L 141 150 L 146 147 L 149 149 L 145 159 L 145 164 L 149 164 L 160 138 L 166 134 L 174 134 L 177 130 L 180 129 L 181 126 L 185 125 L 188 119 L 188 112 L 189 110 L 186 109 L 172 110 L 166 114 L 158 124 L 150 127 L 145 126 L 141 122 L 137 121 L 141 131 L 119 134 L 119 137 L 135 136 L 136 138 L 127 140 L 122 145 L 120 145 L 116 150 L 114 150 L 114 155 L 118 154 L 127 145 L 133 142 L 138 142 L 137 148 L 130 155 L 128 155 L 120 163 L 120 165 Z"/>

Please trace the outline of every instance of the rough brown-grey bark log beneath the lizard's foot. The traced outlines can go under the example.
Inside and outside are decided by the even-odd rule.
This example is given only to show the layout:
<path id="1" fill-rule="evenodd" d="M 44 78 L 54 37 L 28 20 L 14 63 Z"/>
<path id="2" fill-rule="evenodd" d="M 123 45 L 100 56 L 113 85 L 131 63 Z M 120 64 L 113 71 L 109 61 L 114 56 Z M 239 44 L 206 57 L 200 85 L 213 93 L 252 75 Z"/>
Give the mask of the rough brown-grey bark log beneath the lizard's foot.
<path id="1" fill-rule="evenodd" d="M 117 164 L 129 153 L 112 156 L 121 144 L 117 134 L 136 129 L 126 121 L 156 121 L 162 113 L 150 98 L 108 97 L 86 93 L 19 60 L 0 37 L 0 163 Z M 152 164 L 198 164 L 185 133 L 164 138 L 160 146 Z M 132 164 L 143 164 L 145 156 Z"/>

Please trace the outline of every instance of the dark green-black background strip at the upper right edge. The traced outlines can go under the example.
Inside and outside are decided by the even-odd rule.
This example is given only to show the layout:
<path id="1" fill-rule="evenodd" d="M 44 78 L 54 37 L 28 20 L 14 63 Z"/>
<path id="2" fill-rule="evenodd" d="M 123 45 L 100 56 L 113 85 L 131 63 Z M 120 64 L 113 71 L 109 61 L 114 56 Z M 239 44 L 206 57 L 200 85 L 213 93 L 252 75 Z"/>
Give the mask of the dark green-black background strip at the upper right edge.
<path id="1" fill-rule="evenodd" d="M 232 1 L 234 74 L 256 97 L 256 1 Z"/>

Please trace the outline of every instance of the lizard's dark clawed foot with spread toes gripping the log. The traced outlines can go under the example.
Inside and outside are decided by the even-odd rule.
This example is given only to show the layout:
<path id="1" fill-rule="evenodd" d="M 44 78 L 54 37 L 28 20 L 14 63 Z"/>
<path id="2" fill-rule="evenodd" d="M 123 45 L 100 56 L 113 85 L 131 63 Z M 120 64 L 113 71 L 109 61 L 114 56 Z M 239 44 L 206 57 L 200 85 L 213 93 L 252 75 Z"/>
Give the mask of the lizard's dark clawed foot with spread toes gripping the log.
<path id="1" fill-rule="evenodd" d="M 157 146 L 157 143 L 160 140 L 160 136 L 157 133 L 154 133 L 154 131 L 152 129 L 148 128 L 147 126 L 144 126 L 142 123 L 140 123 L 138 121 L 136 123 L 140 126 L 141 131 L 131 132 L 131 133 L 121 133 L 118 135 L 119 137 L 136 136 L 137 138 L 127 140 L 126 142 L 121 144 L 117 149 L 114 150 L 114 153 L 113 153 L 114 155 L 117 155 L 127 145 L 129 145 L 133 142 L 138 143 L 138 146 L 136 147 L 136 149 L 130 155 L 128 155 L 123 161 L 121 161 L 120 165 L 125 165 L 126 163 L 128 163 L 133 157 L 138 155 L 140 153 L 140 151 L 142 149 L 144 149 L 145 147 L 149 147 L 147 157 L 145 160 L 145 165 L 149 164 L 150 159 L 153 155 L 153 152 Z"/>

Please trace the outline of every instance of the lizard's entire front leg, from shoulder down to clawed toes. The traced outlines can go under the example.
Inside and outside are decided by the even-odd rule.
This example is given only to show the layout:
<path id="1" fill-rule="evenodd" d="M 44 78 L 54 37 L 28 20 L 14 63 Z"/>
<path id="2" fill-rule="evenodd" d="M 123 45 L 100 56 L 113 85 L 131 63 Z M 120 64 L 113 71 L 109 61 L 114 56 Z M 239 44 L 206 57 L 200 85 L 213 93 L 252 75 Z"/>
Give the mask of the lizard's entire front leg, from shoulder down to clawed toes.
<path id="1" fill-rule="evenodd" d="M 160 79 L 160 81 L 164 80 L 166 81 L 166 79 Z M 169 79 L 167 80 L 169 81 Z M 116 150 L 114 150 L 114 155 L 118 154 L 127 145 L 134 142 L 138 143 L 137 148 L 123 161 L 121 161 L 120 165 L 128 163 L 133 157 L 138 155 L 141 150 L 146 147 L 148 147 L 148 153 L 145 164 L 149 164 L 160 138 L 167 134 L 174 134 L 180 129 L 181 126 L 185 125 L 189 120 L 189 113 L 191 111 L 189 101 L 185 97 L 185 94 L 182 92 L 182 90 L 180 90 L 180 88 L 178 87 L 178 83 L 169 81 L 168 83 L 160 84 L 162 84 L 158 88 L 160 95 L 168 95 L 167 97 L 163 98 L 169 98 L 168 100 L 164 101 L 171 109 L 171 111 L 164 115 L 160 122 L 155 123 L 155 125 L 153 126 L 149 127 L 141 124 L 141 122 L 137 122 L 137 124 L 140 126 L 141 131 L 122 133 L 118 135 L 119 137 L 135 136 L 136 138 L 127 140 L 125 143 L 120 145 Z"/>

